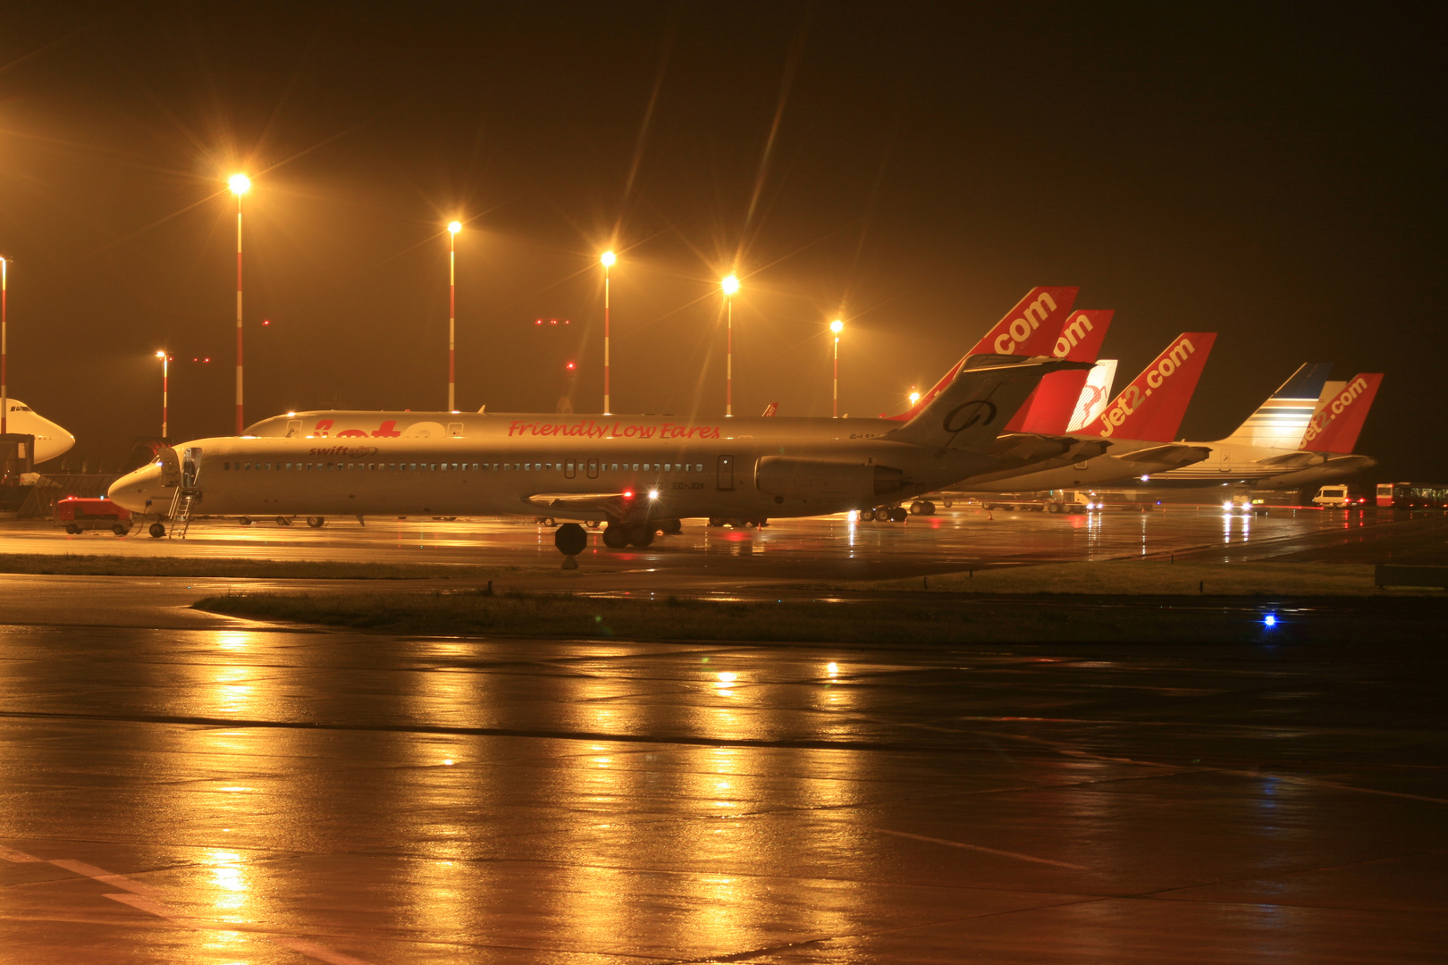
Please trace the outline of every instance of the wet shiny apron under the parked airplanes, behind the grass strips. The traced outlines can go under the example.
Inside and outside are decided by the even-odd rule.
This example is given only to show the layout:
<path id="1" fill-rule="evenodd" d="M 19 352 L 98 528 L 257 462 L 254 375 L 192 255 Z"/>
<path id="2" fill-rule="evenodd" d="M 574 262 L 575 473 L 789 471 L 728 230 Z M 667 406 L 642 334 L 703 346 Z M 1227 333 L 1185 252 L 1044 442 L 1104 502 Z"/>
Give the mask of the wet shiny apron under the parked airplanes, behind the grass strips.
<path id="1" fill-rule="evenodd" d="M 487 563 L 556 567 L 553 530 L 500 519 L 330 519 L 321 530 L 203 519 L 185 540 L 139 528 L 65 535 L 38 522 L 0 522 L 0 553 L 268 557 L 375 563 Z M 1092 515 L 944 509 L 905 524 L 844 516 L 780 519 L 765 530 L 705 528 L 647 550 L 608 550 L 599 532 L 579 557 L 581 576 L 611 587 L 717 589 L 750 583 L 888 579 L 1066 560 L 1281 560 L 1448 564 L 1448 514 L 1273 506 L 1266 515 L 1170 506 Z M 594 579 L 602 574 L 611 579 Z"/>

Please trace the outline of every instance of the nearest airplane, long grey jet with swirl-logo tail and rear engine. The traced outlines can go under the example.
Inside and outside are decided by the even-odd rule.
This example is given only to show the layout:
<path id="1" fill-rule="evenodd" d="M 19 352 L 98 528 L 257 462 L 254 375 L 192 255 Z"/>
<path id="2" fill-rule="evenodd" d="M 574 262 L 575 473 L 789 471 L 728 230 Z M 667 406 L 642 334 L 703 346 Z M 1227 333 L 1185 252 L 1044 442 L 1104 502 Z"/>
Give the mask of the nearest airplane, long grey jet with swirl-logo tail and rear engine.
<path id="1" fill-rule="evenodd" d="M 162 450 L 109 495 L 153 516 L 155 537 L 193 503 L 207 515 L 308 515 L 314 527 L 327 515 L 607 519 L 610 548 L 646 547 L 696 516 L 757 525 L 892 505 L 904 521 L 899 499 L 1009 463 L 1001 428 L 1041 379 L 1089 367 L 973 356 L 905 422 L 514 414 L 439 435 L 200 438 Z"/>

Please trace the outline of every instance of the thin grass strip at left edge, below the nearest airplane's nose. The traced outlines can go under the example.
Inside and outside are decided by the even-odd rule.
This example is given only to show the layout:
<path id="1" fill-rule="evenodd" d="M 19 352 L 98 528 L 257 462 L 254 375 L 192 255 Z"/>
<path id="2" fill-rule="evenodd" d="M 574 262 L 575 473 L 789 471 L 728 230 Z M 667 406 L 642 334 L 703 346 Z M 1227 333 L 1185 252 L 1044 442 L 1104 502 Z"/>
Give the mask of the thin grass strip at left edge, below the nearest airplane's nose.
<path id="1" fill-rule="evenodd" d="M 0 573 L 64 576 L 219 576 L 278 580 L 489 580 L 500 576 L 518 576 L 524 571 L 531 570 L 520 566 L 449 566 L 445 563 L 342 563 L 332 560 L 0 553 Z M 552 573 L 553 570 L 550 569 L 549 571 Z"/>

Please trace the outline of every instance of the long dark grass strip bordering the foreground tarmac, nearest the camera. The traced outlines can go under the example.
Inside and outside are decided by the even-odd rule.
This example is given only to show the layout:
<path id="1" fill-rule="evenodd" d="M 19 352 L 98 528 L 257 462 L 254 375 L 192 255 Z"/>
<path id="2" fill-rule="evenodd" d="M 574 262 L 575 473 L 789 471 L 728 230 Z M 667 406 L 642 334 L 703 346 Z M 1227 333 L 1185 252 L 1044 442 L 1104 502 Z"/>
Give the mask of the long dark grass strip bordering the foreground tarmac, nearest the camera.
<path id="1" fill-rule="evenodd" d="M 1297 626 L 1286 616 L 1267 628 L 1250 605 L 1114 605 L 1093 598 L 1066 602 L 1021 596 L 979 603 L 959 599 L 864 602 L 718 602 L 597 599 L 562 593 L 239 593 L 210 596 L 195 609 L 264 621 L 298 621 L 363 631 L 424 635 L 566 637 L 672 641 L 770 642 L 1280 642 L 1295 634 L 1312 639 L 1361 639 L 1371 613 L 1348 613 Z M 1436 626 L 1441 606 L 1394 616 L 1394 632 Z M 1402 606 L 1402 602 L 1394 603 Z M 1378 628 L 1381 635 L 1381 628 Z M 1306 638 L 1306 637 L 1305 637 Z"/>

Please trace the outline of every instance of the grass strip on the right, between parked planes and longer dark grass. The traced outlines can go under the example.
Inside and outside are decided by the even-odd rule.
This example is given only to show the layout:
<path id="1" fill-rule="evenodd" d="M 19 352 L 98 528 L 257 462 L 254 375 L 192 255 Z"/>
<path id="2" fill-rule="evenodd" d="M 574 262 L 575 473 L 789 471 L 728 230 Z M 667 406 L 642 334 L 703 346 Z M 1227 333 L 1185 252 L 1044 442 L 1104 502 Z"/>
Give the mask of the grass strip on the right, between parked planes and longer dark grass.
<path id="1" fill-rule="evenodd" d="M 1089 596 L 1442 596 L 1431 587 L 1383 589 L 1370 563 L 1043 563 L 930 577 L 849 583 L 849 589 Z M 843 589 L 837 587 L 837 589 Z"/>

